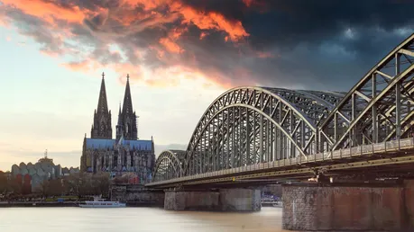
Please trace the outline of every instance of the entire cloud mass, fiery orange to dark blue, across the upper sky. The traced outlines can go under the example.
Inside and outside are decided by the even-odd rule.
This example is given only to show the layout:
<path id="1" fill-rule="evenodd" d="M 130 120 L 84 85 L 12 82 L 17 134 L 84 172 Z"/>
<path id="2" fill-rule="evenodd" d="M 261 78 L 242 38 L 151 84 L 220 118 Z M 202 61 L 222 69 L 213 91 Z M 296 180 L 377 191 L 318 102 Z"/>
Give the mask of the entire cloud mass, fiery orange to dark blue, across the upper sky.
<path id="1" fill-rule="evenodd" d="M 414 31 L 413 1 L 33 0 L 41 14 L 0 2 L 0 17 L 43 50 L 78 50 L 77 70 L 97 63 L 142 78 L 142 68 L 181 67 L 223 85 L 346 90 Z"/>

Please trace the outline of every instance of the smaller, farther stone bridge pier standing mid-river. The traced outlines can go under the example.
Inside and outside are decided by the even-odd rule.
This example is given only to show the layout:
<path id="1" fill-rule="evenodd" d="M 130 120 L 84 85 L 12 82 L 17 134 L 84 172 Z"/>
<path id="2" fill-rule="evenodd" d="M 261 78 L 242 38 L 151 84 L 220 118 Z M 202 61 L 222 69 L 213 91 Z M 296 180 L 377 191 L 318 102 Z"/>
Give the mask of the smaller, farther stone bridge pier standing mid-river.
<path id="1" fill-rule="evenodd" d="M 218 191 L 166 191 L 164 210 L 261 210 L 261 192 L 256 189 Z"/>

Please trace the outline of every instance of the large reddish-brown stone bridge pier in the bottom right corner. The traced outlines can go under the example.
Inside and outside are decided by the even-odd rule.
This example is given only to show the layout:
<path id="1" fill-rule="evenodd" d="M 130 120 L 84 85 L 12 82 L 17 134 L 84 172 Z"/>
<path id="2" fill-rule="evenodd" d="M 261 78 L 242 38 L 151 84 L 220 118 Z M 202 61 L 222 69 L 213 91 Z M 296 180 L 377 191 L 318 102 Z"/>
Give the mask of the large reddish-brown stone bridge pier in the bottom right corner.
<path id="1" fill-rule="evenodd" d="M 414 228 L 414 182 L 282 186 L 282 228 L 398 231 Z"/>

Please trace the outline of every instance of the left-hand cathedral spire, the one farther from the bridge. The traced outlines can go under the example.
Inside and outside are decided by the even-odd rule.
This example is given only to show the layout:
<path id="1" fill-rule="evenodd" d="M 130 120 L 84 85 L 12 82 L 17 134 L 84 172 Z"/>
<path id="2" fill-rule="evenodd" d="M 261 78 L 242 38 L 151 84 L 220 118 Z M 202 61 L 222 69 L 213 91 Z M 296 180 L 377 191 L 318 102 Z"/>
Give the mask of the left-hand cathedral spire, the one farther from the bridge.
<path id="1" fill-rule="evenodd" d="M 91 138 L 112 138 L 111 111 L 108 111 L 106 101 L 105 74 L 102 74 L 101 90 L 94 113 L 94 124 L 90 131 Z"/>

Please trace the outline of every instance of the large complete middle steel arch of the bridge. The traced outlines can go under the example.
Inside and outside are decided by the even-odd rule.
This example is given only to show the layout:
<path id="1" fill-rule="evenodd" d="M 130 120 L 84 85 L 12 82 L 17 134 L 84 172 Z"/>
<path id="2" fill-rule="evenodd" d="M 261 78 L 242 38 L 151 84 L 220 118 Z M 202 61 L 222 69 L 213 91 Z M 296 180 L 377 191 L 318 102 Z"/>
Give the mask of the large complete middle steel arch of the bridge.
<path id="1" fill-rule="evenodd" d="M 184 174 L 306 158 L 315 152 L 317 122 L 327 117 L 340 98 L 341 94 L 317 91 L 233 88 L 218 96 L 198 121 Z"/>

